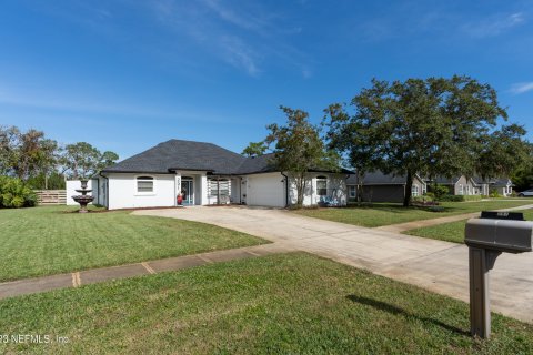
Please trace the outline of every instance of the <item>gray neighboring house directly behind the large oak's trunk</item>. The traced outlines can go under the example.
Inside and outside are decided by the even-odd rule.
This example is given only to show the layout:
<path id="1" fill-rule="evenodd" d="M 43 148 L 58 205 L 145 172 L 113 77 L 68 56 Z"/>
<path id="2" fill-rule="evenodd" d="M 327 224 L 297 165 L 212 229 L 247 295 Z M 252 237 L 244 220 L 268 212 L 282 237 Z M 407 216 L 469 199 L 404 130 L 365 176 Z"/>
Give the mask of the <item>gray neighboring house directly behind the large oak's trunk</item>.
<path id="1" fill-rule="evenodd" d="M 405 196 L 406 178 L 401 175 L 384 174 L 381 171 L 368 173 L 362 179 L 362 201 L 366 202 L 403 202 Z M 348 196 L 356 199 L 358 180 L 355 174 L 346 180 Z M 414 175 L 411 187 L 412 196 L 425 194 L 426 184 L 418 174 Z"/>

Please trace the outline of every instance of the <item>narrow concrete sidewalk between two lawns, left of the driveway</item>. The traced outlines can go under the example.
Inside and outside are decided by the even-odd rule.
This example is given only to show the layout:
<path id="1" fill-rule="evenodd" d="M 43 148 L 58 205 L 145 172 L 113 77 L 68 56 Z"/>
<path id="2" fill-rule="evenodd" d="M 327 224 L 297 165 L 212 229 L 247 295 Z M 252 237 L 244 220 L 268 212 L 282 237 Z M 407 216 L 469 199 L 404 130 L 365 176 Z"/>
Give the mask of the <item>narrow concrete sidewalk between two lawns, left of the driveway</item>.
<path id="1" fill-rule="evenodd" d="M 258 257 L 275 253 L 286 253 L 291 251 L 292 250 L 288 246 L 272 243 L 148 261 L 135 264 L 92 268 L 69 274 L 17 280 L 0 283 L 0 300 L 24 294 L 52 291 L 57 288 L 79 287 L 81 285 L 94 284 L 110 280 L 155 274 L 165 271 L 177 271 L 205 264 Z"/>

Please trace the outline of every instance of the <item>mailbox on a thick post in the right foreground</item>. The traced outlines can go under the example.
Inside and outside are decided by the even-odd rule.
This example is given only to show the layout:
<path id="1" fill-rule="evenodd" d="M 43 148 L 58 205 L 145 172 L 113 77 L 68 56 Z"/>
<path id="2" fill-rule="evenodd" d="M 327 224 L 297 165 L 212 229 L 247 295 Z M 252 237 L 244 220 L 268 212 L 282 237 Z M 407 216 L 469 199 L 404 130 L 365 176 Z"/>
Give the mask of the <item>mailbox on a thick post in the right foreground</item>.
<path id="1" fill-rule="evenodd" d="M 469 246 L 470 326 L 473 336 L 491 336 L 489 272 L 502 252 L 532 251 L 533 222 L 522 213 L 485 212 L 466 222 L 464 242 Z"/>

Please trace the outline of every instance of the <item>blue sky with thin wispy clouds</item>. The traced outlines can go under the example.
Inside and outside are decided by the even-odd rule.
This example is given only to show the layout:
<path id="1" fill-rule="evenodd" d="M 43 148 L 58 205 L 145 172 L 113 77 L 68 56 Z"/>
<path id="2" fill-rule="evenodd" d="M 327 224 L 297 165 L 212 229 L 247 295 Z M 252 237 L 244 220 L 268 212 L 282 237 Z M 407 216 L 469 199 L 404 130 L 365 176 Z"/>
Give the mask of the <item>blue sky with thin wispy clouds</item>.
<path id="1" fill-rule="evenodd" d="M 280 104 L 318 123 L 374 77 L 454 73 L 533 132 L 533 1 L 0 3 L 0 124 L 121 158 L 172 138 L 240 152 Z"/>

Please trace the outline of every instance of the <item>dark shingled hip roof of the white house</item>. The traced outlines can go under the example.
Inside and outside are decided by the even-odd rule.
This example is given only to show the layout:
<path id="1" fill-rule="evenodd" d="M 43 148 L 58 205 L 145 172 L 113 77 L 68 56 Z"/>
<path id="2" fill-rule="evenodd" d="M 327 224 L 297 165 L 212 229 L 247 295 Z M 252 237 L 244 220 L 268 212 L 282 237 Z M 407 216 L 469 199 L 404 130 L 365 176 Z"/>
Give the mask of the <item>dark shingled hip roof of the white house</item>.
<path id="1" fill-rule="evenodd" d="M 207 171 L 215 175 L 274 172 L 273 154 L 242 156 L 212 143 L 170 140 L 102 170 L 104 173 L 169 173 Z M 351 173 L 342 170 L 343 173 Z"/>

